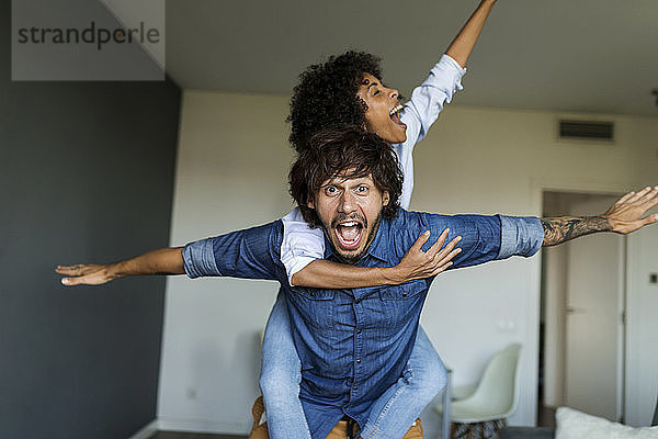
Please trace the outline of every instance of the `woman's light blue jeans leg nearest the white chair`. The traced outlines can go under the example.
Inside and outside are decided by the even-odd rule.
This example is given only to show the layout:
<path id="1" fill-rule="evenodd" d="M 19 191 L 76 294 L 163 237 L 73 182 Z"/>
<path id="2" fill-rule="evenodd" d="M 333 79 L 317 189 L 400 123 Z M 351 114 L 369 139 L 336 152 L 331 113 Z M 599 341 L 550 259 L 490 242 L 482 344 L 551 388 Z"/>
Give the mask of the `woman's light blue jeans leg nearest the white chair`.
<path id="1" fill-rule="evenodd" d="M 445 387 L 447 372 L 422 327 L 407 370 L 374 403 L 361 431 L 363 439 L 400 439 L 428 404 Z"/>

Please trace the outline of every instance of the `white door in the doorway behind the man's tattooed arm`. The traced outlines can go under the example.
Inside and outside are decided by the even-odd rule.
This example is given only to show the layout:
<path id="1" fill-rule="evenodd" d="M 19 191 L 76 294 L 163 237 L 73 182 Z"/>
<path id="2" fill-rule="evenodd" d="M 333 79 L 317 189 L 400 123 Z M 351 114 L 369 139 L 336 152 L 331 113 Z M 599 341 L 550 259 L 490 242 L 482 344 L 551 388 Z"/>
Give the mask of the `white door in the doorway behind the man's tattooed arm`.
<path id="1" fill-rule="evenodd" d="M 574 202 L 571 214 L 600 214 L 615 200 L 592 196 Z M 624 237 L 597 234 L 567 246 L 565 403 L 619 420 Z"/>

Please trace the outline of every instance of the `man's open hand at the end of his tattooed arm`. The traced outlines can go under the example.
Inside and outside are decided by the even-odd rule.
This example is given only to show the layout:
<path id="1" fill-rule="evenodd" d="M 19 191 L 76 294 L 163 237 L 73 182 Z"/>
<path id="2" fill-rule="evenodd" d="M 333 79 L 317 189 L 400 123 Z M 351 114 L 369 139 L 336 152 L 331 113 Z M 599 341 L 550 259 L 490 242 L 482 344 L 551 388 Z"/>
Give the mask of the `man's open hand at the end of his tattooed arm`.
<path id="1" fill-rule="evenodd" d="M 658 222 L 658 215 L 642 216 L 657 204 L 658 185 L 648 187 L 637 193 L 625 194 L 601 216 L 608 219 L 612 232 L 626 235 Z"/>

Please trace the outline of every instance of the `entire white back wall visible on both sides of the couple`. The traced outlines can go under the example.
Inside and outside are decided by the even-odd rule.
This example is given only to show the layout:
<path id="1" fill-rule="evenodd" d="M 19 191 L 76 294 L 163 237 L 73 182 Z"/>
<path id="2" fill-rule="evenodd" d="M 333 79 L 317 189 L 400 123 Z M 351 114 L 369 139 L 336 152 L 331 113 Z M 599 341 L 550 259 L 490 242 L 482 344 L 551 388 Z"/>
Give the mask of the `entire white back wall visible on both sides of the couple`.
<path id="1" fill-rule="evenodd" d="M 286 97 L 185 92 L 172 245 L 290 210 L 286 114 Z M 453 105 L 416 150 L 411 207 L 538 215 L 542 189 L 617 192 L 654 182 L 657 119 L 612 119 L 614 145 L 558 143 L 555 114 Z M 268 282 L 170 280 L 158 409 L 164 425 L 247 431 L 258 394 L 257 333 L 275 292 Z M 517 258 L 442 274 L 423 312 L 457 385 L 477 381 L 495 351 L 523 344 L 515 424 L 535 420 L 538 292 L 540 258 Z M 428 412 L 427 419 L 432 437 L 435 418 Z"/>

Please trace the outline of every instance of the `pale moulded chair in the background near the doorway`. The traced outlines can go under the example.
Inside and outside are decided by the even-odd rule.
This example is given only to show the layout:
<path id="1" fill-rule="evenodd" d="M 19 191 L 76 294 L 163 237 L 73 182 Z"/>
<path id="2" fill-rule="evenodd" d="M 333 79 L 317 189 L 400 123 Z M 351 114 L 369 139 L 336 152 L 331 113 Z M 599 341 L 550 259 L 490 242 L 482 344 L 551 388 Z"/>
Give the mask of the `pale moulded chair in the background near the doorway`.
<path id="1" fill-rule="evenodd" d="M 451 438 L 491 438 L 507 425 L 507 418 L 514 413 L 519 402 L 517 365 L 520 351 L 521 345 L 513 344 L 497 352 L 475 392 L 451 404 Z M 443 406 L 435 409 L 443 413 Z"/>

